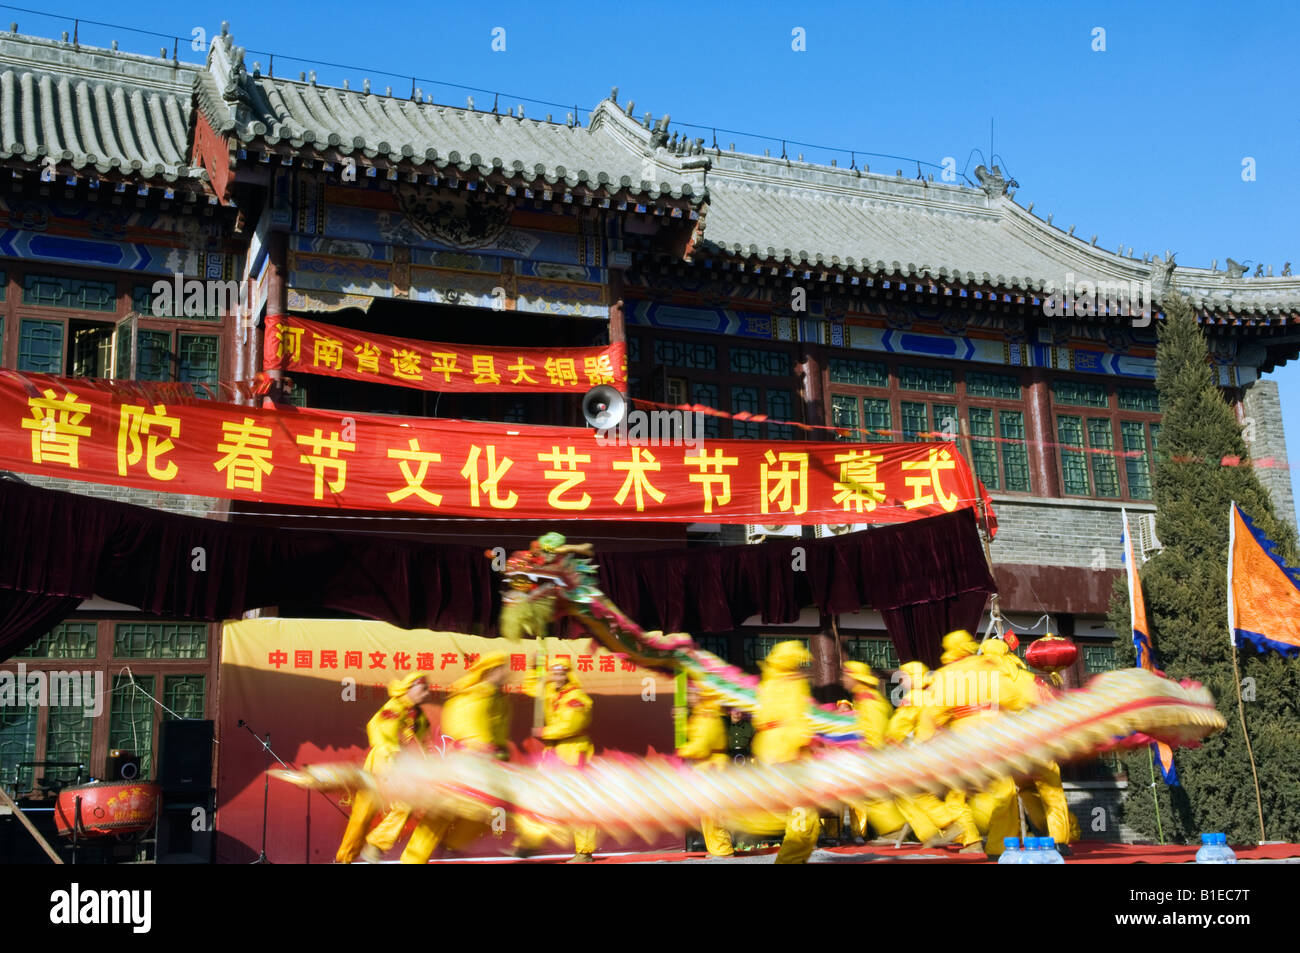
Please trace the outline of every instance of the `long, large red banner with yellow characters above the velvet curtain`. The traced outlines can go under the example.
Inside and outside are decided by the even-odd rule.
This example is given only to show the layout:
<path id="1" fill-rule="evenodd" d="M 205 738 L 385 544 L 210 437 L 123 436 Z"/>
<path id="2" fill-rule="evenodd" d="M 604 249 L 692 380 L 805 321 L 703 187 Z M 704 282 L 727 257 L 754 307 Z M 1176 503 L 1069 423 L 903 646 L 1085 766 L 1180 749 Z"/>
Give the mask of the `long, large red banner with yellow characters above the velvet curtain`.
<path id="1" fill-rule="evenodd" d="M 0 469 L 96 484 L 537 520 L 898 523 L 976 504 L 946 442 L 647 446 L 632 434 L 244 407 L 177 385 L 0 371 Z"/>

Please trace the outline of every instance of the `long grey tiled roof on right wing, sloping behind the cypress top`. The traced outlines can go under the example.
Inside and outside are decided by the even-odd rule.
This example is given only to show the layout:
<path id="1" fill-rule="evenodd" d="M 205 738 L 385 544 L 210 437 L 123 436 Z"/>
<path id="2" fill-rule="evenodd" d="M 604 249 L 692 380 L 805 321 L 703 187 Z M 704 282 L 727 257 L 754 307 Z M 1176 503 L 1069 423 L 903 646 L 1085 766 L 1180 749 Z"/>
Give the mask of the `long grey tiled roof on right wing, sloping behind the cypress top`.
<path id="1" fill-rule="evenodd" d="M 816 166 L 710 150 L 708 215 L 697 248 L 729 259 L 810 263 L 855 274 L 930 276 L 1041 291 L 1075 281 L 1144 282 L 1152 261 L 1096 247 L 1020 208 L 998 189 Z M 1204 311 L 1294 312 L 1300 277 L 1228 278 L 1176 267 L 1173 285 Z"/>

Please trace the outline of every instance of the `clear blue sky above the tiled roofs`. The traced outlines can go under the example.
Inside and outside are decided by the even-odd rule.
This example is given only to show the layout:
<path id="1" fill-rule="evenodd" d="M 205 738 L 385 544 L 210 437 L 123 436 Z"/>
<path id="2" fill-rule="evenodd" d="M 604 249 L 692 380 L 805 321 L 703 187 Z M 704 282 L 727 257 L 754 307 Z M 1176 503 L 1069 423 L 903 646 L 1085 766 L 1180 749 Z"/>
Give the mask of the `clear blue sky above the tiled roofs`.
<path id="1" fill-rule="evenodd" d="M 1218 259 L 1274 265 L 1295 261 L 1300 242 L 1295 160 L 1300 74 L 1300 5 L 1223 7 L 1197 3 L 962 4 L 962 3 L 698 3 L 554 7 L 500 0 L 459 4 L 247 3 L 130 5 L 52 0 L 66 17 L 190 38 L 213 35 L 229 20 L 247 61 L 296 75 L 317 70 L 322 83 L 369 77 L 380 91 L 410 92 L 419 77 L 436 101 L 480 107 L 490 95 L 442 83 L 502 91 L 502 108 L 556 117 L 590 109 L 620 87 L 636 113 L 672 114 L 673 125 L 712 127 L 727 147 L 746 151 L 780 139 L 818 143 L 866 156 L 872 170 L 915 173 L 916 160 L 945 156 L 967 168 L 971 150 L 993 150 L 1014 176 L 1020 204 L 1054 213 L 1058 225 L 1096 233 L 1140 255 L 1170 248 L 1186 265 Z M 27 34 L 72 30 L 32 12 L 0 8 Z M 504 52 L 493 31 L 504 30 Z M 806 49 L 792 49 L 801 27 Z M 1105 51 L 1093 51 L 1095 30 Z M 83 23 L 83 42 L 156 53 L 161 39 Z M 170 51 L 172 43 L 166 43 Z M 182 59 L 202 53 L 182 44 Z M 356 69 L 291 61 L 304 57 Z M 398 75 L 384 75 L 391 70 Z M 508 95 L 506 95 L 508 94 Z M 526 99 L 524 99 L 526 98 Z M 534 100 L 534 101 L 529 101 Z M 585 118 L 585 113 L 584 113 Z M 727 133 L 774 137 L 777 142 Z M 788 146 L 810 161 L 848 156 Z M 1242 163 L 1253 157 L 1256 179 Z M 967 174 L 982 161 L 970 161 Z M 1291 228 L 1288 228 L 1288 225 Z M 1282 390 L 1291 452 L 1300 454 L 1300 361 L 1273 374 Z M 1300 490 L 1296 472 L 1292 485 Z M 1300 491 L 1297 491 L 1300 497 Z"/>

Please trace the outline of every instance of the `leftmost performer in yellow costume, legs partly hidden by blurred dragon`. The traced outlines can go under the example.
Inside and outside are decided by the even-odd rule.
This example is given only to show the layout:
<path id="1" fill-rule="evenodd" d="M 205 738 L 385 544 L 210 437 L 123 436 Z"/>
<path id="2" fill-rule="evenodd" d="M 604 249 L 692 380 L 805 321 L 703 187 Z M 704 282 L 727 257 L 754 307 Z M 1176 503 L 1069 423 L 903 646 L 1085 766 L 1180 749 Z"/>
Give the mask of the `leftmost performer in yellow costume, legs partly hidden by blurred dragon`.
<path id="1" fill-rule="evenodd" d="M 420 711 L 420 706 L 430 697 L 429 683 L 419 673 L 389 684 L 389 701 L 365 725 L 365 735 L 370 742 L 364 764 L 367 771 L 382 774 L 404 744 L 422 745 L 429 733 L 429 719 Z M 370 822 L 378 814 L 380 806 L 368 790 L 359 790 L 352 796 L 352 815 L 343 832 L 343 841 L 338 845 L 335 863 L 355 861 L 358 854 L 363 853 L 363 844 L 365 845 L 365 859 L 373 863 L 396 842 L 402 828 L 406 827 L 407 819 L 411 816 L 411 809 L 403 803 L 391 805 L 384 820 L 370 831 Z M 416 826 L 416 832 L 411 835 L 411 844 L 422 849 L 430 833 L 430 828 L 421 822 Z M 407 850 L 411 850 L 410 845 Z"/>

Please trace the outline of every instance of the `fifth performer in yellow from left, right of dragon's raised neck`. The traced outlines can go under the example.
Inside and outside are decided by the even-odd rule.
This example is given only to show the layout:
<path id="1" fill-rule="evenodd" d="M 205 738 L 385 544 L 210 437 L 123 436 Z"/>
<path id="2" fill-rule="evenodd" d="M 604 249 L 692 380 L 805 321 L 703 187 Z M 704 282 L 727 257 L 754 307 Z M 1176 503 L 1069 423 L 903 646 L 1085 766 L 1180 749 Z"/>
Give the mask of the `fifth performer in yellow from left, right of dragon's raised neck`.
<path id="1" fill-rule="evenodd" d="M 792 640 L 777 642 L 760 666 L 753 751 L 763 764 L 796 761 L 809 750 L 814 735 L 807 714 L 812 693 L 802 670 L 811 663 L 812 655 L 803 644 Z M 822 829 L 815 807 L 796 807 L 788 814 L 746 811 L 734 823 L 760 836 L 784 831 L 777 863 L 807 863 Z"/>

